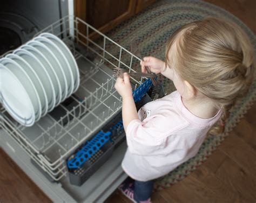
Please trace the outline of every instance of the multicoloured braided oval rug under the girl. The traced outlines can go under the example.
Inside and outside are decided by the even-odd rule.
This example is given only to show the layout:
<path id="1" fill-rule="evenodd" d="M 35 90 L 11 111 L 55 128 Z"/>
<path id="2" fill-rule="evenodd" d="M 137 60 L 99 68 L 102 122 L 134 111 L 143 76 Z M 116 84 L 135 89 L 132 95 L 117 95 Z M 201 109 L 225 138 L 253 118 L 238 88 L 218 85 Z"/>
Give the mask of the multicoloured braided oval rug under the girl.
<path id="1" fill-rule="evenodd" d="M 256 53 L 256 37 L 254 33 L 237 17 L 218 6 L 194 0 L 157 1 L 157 3 L 120 24 L 117 28 L 113 29 L 106 35 L 127 50 L 130 50 L 131 39 L 135 37 L 139 44 L 142 56 L 155 56 L 164 60 L 165 44 L 172 33 L 184 24 L 197 21 L 208 16 L 217 16 L 229 19 L 230 21 L 234 21 L 240 25 L 250 37 Z M 111 48 L 111 45 L 109 46 L 110 47 L 108 49 L 112 50 L 112 53 L 118 53 L 119 49 L 114 47 Z M 139 65 L 137 66 L 139 67 Z M 175 90 L 171 80 L 161 76 L 159 80 L 163 83 L 167 93 Z M 185 178 L 192 171 L 196 170 L 197 166 L 201 165 L 209 155 L 211 155 L 216 147 L 221 144 L 221 141 L 225 139 L 228 132 L 233 130 L 247 110 L 250 109 L 250 106 L 253 104 L 255 99 L 256 81 L 254 80 L 247 96 L 240 100 L 232 110 L 230 118 L 226 123 L 225 132 L 219 136 L 209 135 L 194 158 L 186 161 L 186 163 L 180 165 L 164 177 L 157 179 L 154 184 L 154 189 L 162 190 L 163 188 L 170 187 Z"/>

